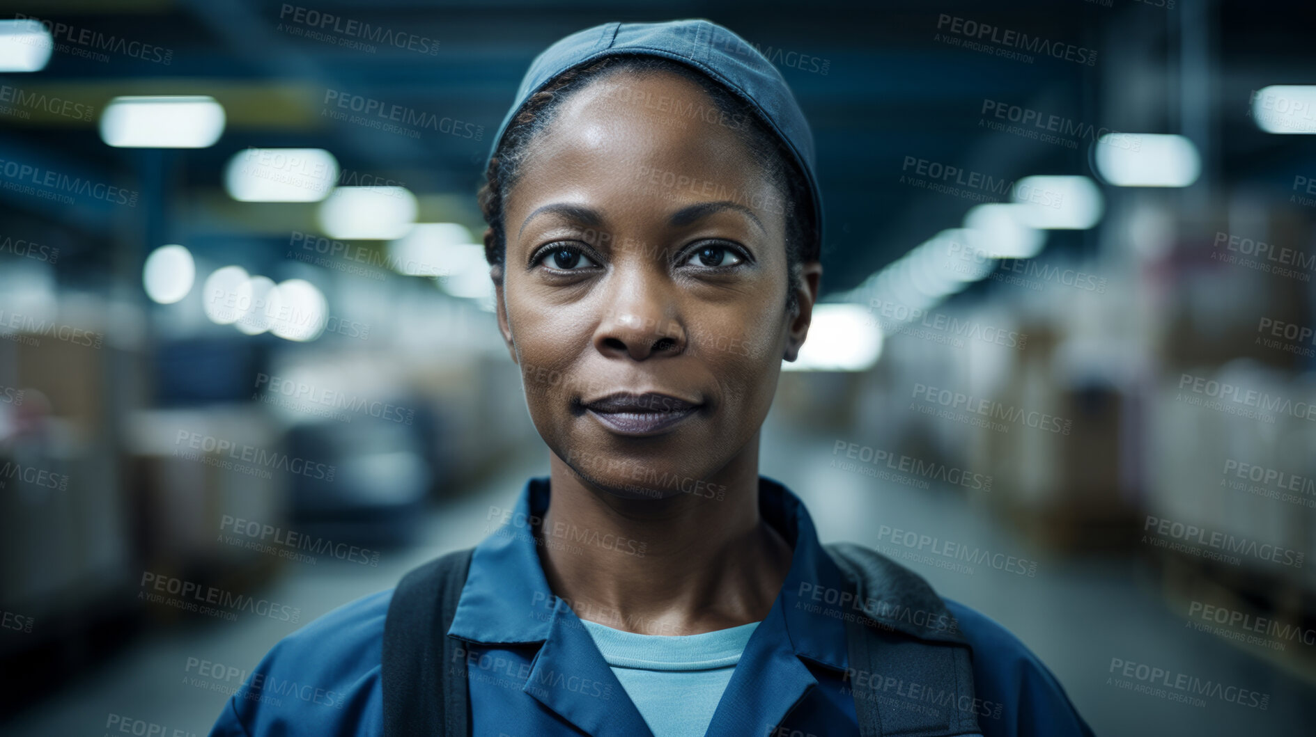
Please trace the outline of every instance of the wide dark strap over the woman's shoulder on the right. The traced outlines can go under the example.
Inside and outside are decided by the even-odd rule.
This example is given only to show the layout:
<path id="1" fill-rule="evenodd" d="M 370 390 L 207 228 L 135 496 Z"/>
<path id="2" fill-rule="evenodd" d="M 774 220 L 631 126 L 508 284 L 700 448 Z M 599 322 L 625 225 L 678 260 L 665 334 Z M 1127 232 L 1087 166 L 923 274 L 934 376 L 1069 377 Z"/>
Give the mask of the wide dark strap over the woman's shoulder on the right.
<path id="1" fill-rule="evenodd" d="M 845 623 L 861 737 L 982 734 L 969 642 L 941 596 L 876 550 L 824 548 L 867 617 Z"/>

